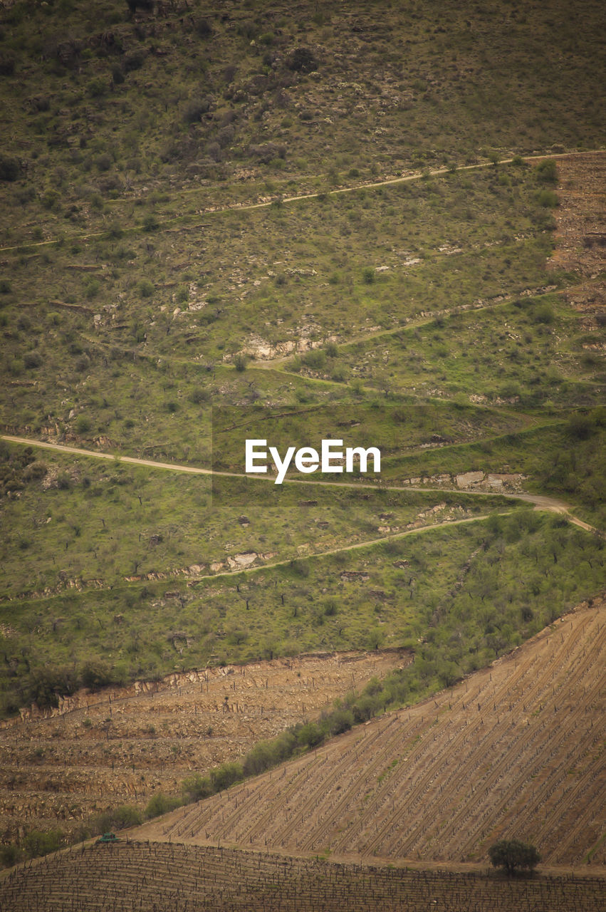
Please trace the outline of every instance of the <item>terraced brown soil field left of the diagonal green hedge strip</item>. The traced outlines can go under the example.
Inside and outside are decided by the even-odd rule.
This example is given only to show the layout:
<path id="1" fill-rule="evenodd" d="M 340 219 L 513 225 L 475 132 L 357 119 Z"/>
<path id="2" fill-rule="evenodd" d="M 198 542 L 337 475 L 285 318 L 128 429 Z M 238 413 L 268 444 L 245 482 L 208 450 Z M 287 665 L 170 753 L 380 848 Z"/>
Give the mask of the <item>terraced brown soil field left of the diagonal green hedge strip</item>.
<path id="1" fill-rule="evenodd" d="M 179 793 L 190 772 L 235 760 L 409 660 L 398 649 L 277 658 L 82 691 L 46 718 L 24 712 L 0 728 L 0 827 L 5 838 L 24 824 L 69 830 Z"/>

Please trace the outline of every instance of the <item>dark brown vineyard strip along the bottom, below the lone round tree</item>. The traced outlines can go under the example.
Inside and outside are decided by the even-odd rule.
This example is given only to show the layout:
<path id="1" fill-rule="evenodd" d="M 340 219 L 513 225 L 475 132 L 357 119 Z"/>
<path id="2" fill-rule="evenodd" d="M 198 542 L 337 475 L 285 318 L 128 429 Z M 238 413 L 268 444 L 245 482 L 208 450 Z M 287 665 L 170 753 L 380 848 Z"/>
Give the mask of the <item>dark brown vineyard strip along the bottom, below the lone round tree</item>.
<path id="1" fill-rule="evenodd" d="M 2 912 L 599 912 L 603 876 L 334 864 L 167 843 L 88 845 L 0 881 Z"/>

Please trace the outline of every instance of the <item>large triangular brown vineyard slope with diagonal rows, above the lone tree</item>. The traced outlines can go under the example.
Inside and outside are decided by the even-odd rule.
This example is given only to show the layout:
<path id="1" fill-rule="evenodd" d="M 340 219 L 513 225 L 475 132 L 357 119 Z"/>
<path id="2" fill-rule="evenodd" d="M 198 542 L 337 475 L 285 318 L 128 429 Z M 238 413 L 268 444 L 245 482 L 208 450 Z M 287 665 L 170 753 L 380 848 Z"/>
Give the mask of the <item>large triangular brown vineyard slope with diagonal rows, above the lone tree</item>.
<path id="1" fill-rule="evenodd" d="M 583 603 L 435 699 L 134 834 L 365 863 L 485 862 L 508 838 L 603 865 L 605 622 L 603 597 Z"/>

